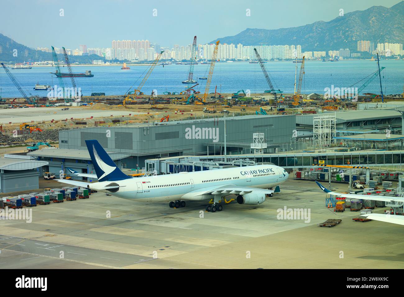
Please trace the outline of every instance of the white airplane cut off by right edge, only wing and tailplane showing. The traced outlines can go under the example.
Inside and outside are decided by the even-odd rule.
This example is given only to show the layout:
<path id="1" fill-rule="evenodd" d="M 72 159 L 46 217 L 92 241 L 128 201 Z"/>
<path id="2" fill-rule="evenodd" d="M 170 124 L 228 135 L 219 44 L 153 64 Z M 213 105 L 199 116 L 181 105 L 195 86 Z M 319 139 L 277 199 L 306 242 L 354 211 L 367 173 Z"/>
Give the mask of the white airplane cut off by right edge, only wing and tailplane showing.
<path id="1" fill-rule="evenodd" d="M 403 198 L 399 197 L 387 197 L 387 196 L 379 196 L 379 195 L 358 195 L 358 194 L 343 194 L 338 192 L 332 192 L 324 187 L 322 184 L 316 181 L 318 186 L 323 192 L 326 192 L 330 195 L 335 195 L 336 197 L 342 198 L 351 198 L 351 199 L 363 199 L 363 200 L 375 200 L 375 201 L 397 201 L 397 202 L 404 202 Z M 390 213 L 383 214 L 383 213 L 370 213 L 366 215 L 362 215 L 370 220 L 393 223 L 393 224 L 400 224 L 404 225 L 404 215 L 391 215 Z"/>

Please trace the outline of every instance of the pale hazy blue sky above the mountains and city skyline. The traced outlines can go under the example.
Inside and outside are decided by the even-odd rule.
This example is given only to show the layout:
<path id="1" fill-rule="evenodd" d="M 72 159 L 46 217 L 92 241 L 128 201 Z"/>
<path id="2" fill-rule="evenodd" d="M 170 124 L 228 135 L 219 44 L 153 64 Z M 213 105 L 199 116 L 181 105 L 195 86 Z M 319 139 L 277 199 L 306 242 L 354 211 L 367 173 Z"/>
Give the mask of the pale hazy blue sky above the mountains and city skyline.
<path id="1" fill-rule="evenodd" d="M 246 28 L 278 29 L 330 21 L 373 5 L 400 0 L 2 0 L 0 32 L 36 48 L 111 47 L 112 40 L 160 46 L 231 36 Z M 60 16 L 60 10 L 64 16 Z M 154 11 L 154 9 L 156 9 Z M 250 9 L 250 16 L 246 16 Z M 153 14 L 157 14 L 154 16 Z"/>

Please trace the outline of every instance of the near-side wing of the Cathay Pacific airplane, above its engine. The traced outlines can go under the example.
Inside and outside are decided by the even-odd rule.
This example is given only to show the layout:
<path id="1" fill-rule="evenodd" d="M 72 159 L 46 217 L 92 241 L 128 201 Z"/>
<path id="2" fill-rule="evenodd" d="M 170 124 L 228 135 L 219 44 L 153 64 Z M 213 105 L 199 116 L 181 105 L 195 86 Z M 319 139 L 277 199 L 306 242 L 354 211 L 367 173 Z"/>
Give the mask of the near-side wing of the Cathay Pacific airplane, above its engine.
<path id="1" fill-rule="evenodd" d="M 224 197 L 224 196 L 232 195 L 232 194 L 246 195 L 251 192 L 254 192 L 257 194 L 271 194 L 271 193 L 275 192 L 275 190 L 240 187 L 240 186 L 236 186 L 235 184 L 228 184 L 228 185 L 224 185 L 224 186 L 211 186 L 211 187 L 201 188 L 201 189 L 198 189 L 198 190 L 195 190 L 192 192 L 188 192 L 185 195 L 183 195 L 181 198 L 192 200 L 193 197 L 196 197 L 199 195 L 204 195 L 204 194 L 221 195 Z"/>

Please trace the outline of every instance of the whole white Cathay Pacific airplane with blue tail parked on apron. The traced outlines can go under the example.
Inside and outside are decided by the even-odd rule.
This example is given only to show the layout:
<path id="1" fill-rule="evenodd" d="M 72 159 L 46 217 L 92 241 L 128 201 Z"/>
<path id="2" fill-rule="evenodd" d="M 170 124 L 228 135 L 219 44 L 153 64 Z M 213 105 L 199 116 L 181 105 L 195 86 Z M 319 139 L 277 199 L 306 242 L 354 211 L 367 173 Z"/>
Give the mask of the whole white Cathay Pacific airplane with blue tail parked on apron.
<path id="1" fill-rule="evenodd" d="M 116 166 L 97 140 L 86 140 L 86 145 L 98 182 L 57 181 L 108 191 L 124 199 L 170 201 L 169 206 L 175 208 L 184 207 L 185 201 L 204 200 L 213 202 L 206 206 L 206 210 L 211 212 L 223 209 L 219 204 L 221 200 L 225 203 L 237 200 L 239 204 L 261 204 L 265 201 L 265 195 L 272 197 L 289 176 L 282 167 L 276 165 L 255 165 L 132 178 Z M 237 198 L 227 201 L 225 197 L 232 194 L 237 195 Z"/>

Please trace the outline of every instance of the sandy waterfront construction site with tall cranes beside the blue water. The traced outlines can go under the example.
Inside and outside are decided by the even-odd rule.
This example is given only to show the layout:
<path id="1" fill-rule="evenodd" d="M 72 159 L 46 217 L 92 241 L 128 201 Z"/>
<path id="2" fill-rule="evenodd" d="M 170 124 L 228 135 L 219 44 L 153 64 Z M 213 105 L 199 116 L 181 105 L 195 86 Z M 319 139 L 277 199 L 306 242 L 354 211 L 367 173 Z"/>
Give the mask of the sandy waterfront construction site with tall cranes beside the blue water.
<path id="1" fill-rule="evenodd" d="M 380 66 L 378 71 L 361 79 L 362 82 L 365 82 L 358 88 L 356 94 L 351 92 L 351 88 L 338 90 L 339 95 L 334 90 L 325 95 L 302 94 L 302 84 L 305 77 L 304 56 L 302 61 L 299 61 L 301 62 L 299 70 L 296 61 L 294 93 L 283 94 L 281 90 L 275 87 L 276 78 L 267 71 L 256 49 L 255 55 L 261 67 L 263 79 L 267 82 L 268 90 L 258 94 L 250 94 L 249 90 L 221 94 L 215 86 L 215 91 L 210 92 L 219 42 L 216 42 L 215 50 L 210 59 L 203 93 L 194 89 L 198 85 L 193 79 L 194 65 L 197 64 L 195 58 L 196 36 L 192 45 L 187 80 L 183 82 L 187 84 L 187 88 L 181 92 L 164 92 L 160 95 L 157 95 L 155 90 L 150 95 L 142 92 L 142 87 L 152 74 L 154 67 L 158 65 L 163 52 L 156 56 L 154 62 L 143 73 L 144 75 L 139 77 L 141 79 L 139 86 L 136 88 L 131 86 L 130 88 L 133 90 L 120 96 L 108 96 L 103 93 L 81 96 L 65 48 L 63 48 L 63 58 L 69 70 L 67 76 L 70 77 L 72 87 L 67 87 L 63 77 L 58 76 L 59 88 L 51 90 L 52 96 L 33 96 L 29 91 L 23 90 L 15 76 L 2 64 L 4 71 L 21 93 L 21 98 L 2 98 L 1 100 L 0 108 L 3 110 L 0 110 L 0 144 L 7 146 L 32 141 L 57 142 L 59 130 L 72 128 L 163 123 L 243 115 L 257 115 L 258 117 L 260 115 L 299 116 L 329 111 L 352 111 L 357 110 L 358 103 L 361 102 L 388 102 L 404 98 L 404 89 L 403 94 L 400 95 L 401 98 L 383 96 L 382 90 L 381 94 L 359 95 L 366 90 L 366 86 L 380 76 L 384 69 Z M 52 54 L 56 68 L 55 74 L 61 73 L 60 60 L 53 47 Z"/>

